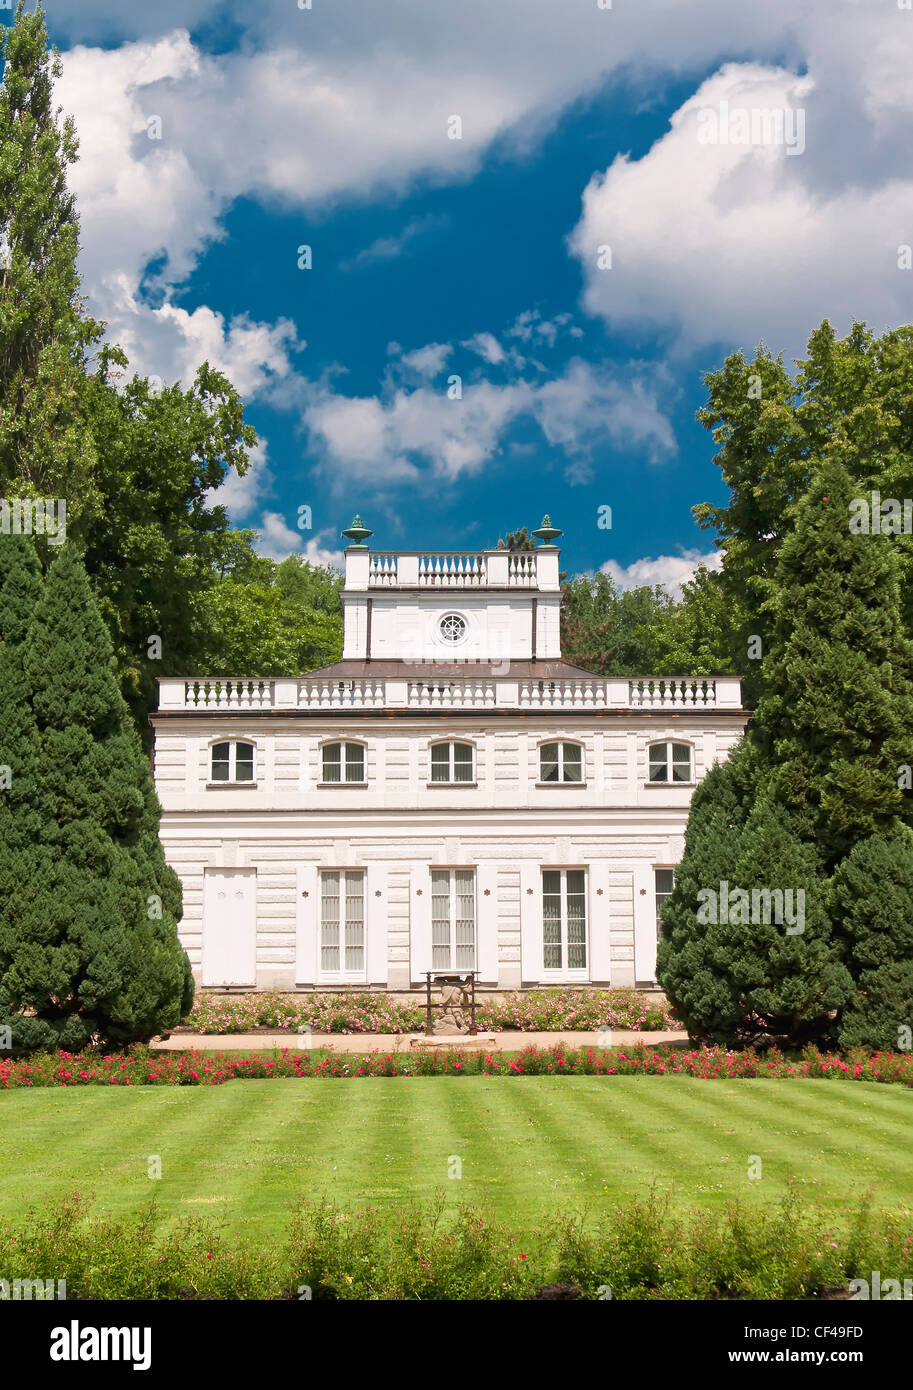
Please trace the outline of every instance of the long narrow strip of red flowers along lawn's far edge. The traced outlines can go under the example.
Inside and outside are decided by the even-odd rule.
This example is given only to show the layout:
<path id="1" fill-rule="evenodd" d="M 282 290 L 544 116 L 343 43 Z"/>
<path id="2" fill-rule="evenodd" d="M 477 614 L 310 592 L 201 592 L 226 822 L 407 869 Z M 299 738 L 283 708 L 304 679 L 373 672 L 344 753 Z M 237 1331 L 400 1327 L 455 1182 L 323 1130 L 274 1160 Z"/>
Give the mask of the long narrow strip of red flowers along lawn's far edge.
<path id="1" fill-rule="evenodd" d="M 371 1052 L 313 1056 L 283 1048 L 278 1058 L 190 1052 L 99 1055 L 69 1052 L 0 1061 L 0 1090 L 29 1086 L 221 1086 L 225 1081 L 271 1077 L 334 1079 L 384 1076 L 689 1076 L 698 1080 L 756 1077 L 827 1077 L 913 1086 L 909 1052 L 863 1052 L 846 1056 L 806 1048 L 791 1061 L 778 1051 L 727 1052 L 720 1047 L 677 1051 L 646 1048 L 524 1048 L 520 1052 Z"/>

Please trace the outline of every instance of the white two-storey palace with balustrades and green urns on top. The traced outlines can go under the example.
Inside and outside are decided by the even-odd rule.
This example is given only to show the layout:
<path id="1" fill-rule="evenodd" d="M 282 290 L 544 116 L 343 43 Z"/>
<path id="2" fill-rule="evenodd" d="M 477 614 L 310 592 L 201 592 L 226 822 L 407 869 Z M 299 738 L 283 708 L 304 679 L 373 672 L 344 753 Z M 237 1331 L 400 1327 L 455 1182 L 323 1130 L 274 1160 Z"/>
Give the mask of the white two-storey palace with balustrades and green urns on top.
<path id="1" fill-rule="evenodd" d="M 160 681 L 161 840 L 197 986 L 653 983 L 741 684 L 568 666 L 560 532 L 534 534 L 529 552 L 389 553 L 356 517 L 340 662 Z"/>

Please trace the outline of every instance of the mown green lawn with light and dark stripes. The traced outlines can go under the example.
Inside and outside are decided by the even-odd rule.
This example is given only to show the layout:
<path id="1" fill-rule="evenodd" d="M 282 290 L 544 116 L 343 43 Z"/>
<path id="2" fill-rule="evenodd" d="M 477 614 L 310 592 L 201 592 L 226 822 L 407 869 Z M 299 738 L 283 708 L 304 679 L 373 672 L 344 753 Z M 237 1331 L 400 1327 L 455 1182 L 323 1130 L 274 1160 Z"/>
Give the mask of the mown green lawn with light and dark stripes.
<path id="1" fill-rule="evenodd" d="M 529 1230 L 571 1207 L 674 1187 L 682 1205 L 773 1201 L 787 1176 L 835 1213 L 913 1207 L 913 1091 L 674 1076 L 231 1081 L 0 1097 L 0 1215 L 79 1188 L 96 1212 L 281 1230 L 296 1194 L 396 1205 L 443 1191 Z M 763 1179 L 749 1180 L 749 1155 Z M 161 1180 L 147 1177 L 160 1155 Z M 459 1155 L 461 1180 L 447 1177 Z"/>

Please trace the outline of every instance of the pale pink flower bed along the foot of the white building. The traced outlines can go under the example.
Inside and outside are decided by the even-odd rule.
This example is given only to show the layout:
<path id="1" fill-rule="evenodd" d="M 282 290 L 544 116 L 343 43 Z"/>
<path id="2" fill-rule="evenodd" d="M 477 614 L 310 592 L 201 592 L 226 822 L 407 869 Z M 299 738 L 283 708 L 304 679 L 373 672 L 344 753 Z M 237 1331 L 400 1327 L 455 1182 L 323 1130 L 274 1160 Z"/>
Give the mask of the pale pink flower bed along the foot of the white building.
<path id="1" fill-rule="evenodd" d="M 253 1029 L 313 1033 L 416 1033 L 425 1026 L 424 1006 L 382 994 L 245 994 L 200 995 L 186 1020 L 195 1033 L 247 1033 Z M 489 1033 L 634 1031 L 677 1027 L 668 1005 L 636 990 L 529 990 L 482 1004 L 477 1023 Z"/>

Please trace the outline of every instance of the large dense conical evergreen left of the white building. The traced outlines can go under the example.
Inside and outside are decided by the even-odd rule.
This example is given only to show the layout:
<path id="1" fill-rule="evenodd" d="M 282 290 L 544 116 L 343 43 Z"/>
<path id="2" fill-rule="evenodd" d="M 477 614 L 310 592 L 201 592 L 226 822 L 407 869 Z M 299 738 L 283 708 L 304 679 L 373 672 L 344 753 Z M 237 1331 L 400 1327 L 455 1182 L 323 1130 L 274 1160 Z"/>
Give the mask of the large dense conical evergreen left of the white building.
<path id="1" fill-rule="evenodd" d="M 149 1040 L 193 998 L 181 888 L 111 641 L 69 548 L 15 652 L 22 680 L 0 691 L 3 719 L 31 719 L 36 756 L 13 778 L 31 833 L 0 848 L 0 1024 L 17 1051 Z M 4 669 L 13 657 L 4 649 Z"/>

